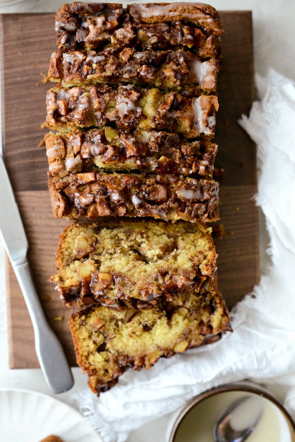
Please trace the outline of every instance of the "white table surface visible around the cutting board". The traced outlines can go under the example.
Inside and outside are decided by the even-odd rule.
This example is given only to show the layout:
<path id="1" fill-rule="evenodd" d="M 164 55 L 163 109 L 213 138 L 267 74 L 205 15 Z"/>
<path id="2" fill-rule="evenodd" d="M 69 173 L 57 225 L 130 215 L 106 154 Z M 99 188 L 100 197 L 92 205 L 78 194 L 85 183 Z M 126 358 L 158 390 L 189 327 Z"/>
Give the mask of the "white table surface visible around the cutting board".
<path id="1" fill-rule="evenodd" d="M 70 1 L 70 0 L 68 0 Z M 205 0 L 204 0 L 205 1 Z M 212 0 L 209 1 L 220 10 L 252 10 L 254 35 L 254 67 L 255 72 L 265 74 L 268 67 L 295 79 L 295 38 L 294 16 L 295 0 Z M 25 0 L 11 6 L 1 6 L 0 13 L 8 12 L 54 12 L 65 1 L 62 0 Z M 131 3 L 131 2 L 130 2 Z M 293 18 L 293 19 L 292 19 Z M 1 216 L 1 214 L 0 214 Z M 264 271 L 268 264 L 265 249 L 268 236 L 264 228 L 264 219 L 260 213 L 260 264 Z M 11 370 L 8 367 L 7 313 L 5 300 L 5 269 L 4 248 L 0 243 L 0 286 L 2 287 L 3 303 L 0 304 L 0 388 L 17 387 L 48 393 L 41 370 Z M 75 406 L 73 393 L 86 386 L 86 375 L 74 368 L 75 385 L 69 392 L 58 395 L 58 398 Z M 134 373 L 136 375 L 136 373 Z M 147 440 L 164 441 L 167 418 L 158 419 L 153 425 L 133 431 L 128 442 L 144 442 Z M 147 429 L 146 429 L 147 430 Z M 148 434 L 148 438 L 145 436 Z"/>

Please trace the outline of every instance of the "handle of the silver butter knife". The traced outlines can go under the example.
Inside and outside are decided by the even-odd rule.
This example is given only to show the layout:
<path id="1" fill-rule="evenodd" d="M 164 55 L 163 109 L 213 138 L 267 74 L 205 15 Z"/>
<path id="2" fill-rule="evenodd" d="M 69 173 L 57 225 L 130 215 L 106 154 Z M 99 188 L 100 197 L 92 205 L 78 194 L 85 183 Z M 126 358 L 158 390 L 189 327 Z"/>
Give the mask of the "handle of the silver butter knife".
<path id="1" fill-rule="evenodd" d="M 73 375 L 61 343 L 46 320 L 29 264 L 18 264 L 14 271 L 31 316 L 35 348 L 46 384 L 52 393 L 65 392 L 73 387 Z"/>

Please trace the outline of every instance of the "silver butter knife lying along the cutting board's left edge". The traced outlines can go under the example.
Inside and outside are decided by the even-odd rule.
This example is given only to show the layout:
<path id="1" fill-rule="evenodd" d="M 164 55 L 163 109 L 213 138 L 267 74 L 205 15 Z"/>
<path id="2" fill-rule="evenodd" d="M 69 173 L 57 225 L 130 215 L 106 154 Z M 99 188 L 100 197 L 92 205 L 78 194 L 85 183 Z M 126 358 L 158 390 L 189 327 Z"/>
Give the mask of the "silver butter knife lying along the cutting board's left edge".
<path id="1" fill-rule="evenodd" d="M 46 320 L 34 287 L 27 261 L 29 244 L 1 155 L 0 208 L 0 232 L 31 316 L 35 348 L 46 384 L 52 393 L 65 392 L 73 387 L 73 375 L 61 343 Z"/>

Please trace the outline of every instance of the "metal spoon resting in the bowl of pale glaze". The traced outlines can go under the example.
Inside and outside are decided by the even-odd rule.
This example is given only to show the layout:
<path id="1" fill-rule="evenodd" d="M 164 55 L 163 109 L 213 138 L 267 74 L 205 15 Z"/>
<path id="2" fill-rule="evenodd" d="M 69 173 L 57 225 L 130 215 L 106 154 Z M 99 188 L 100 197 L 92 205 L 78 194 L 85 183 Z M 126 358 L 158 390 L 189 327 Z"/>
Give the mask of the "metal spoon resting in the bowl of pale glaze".
<path id="1" fill-rule="evenodd" d="M 252 404 L 251 412 L 254 414 L 252 417 L 248 417 L 248 423 L 245 427 L 240 428 L 232 428 L 231 418 L 234 415 L 234 412 L 237 412 L 238 407 L 241 407 L 245 402 L 249 402 L 247 404 L 251 407 L 250 402 L 253 400 L 258 400 L 259 403 Z M 257 406 L 258 405 L 258 406 Z M 245 406 L 243 407 L 245 408 Z M 256 409 L 255 409 L 256 408 Z M 244 442 L 249 438 L 249 435 L 253 432 L 257 423 L 261 418 L 261 414 L 263 411 L 263 400 L 259 396 L 246 396 L 241 399 L 236 400 L 233 404 L 230 405 L 229 408 L 222 413 L 218 421 L 215 423 L 213 428 L 213 439 L 214 442 Z"/>

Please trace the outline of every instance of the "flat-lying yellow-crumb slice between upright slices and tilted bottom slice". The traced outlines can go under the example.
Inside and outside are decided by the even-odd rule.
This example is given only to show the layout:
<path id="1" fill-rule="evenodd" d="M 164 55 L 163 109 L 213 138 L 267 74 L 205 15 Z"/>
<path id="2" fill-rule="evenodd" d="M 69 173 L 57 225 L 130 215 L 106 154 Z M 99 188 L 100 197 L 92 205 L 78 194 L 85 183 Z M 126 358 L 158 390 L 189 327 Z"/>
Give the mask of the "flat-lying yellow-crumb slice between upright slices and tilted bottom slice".
<path id="1" fill-rule="evenodd" d="M 68 225 L 56 255 L 65 304 L 152 307 L 213 278 L 211 228 L 183 221 L 100 221 Z"/>

